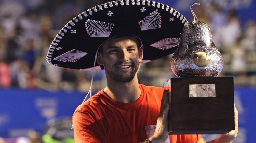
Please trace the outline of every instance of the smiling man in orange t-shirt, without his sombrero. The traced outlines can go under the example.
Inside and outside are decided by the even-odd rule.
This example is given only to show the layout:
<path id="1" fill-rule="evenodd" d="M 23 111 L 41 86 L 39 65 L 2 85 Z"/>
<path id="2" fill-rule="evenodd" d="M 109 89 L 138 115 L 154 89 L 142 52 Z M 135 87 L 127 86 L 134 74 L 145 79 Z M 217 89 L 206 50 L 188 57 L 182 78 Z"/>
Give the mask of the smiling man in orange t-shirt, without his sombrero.
<path id="1" fill-rule="evenodd" d="M 138 83 L 137 70 L 142 60 L 142 49 L 138 49 L 138 43 L 133 36 L 117 36 L 105 42 L 100 49 L 97 62 L 104 66 L 107 86 L 76 109 L 73 115 L 76 142 L 140 142 L 146 138 L 144 130 L 148 125 L 156 125 L 154 134 L 149 137 L 151 142 L 164 142 L 167 139 L 169 91 L 164 90 L 160 102 L 162 88 Z M 154 100 L 155 103 L 152 102 Z M 160 107 L 160 113 L 155 105 Z M 148 114 L 149 110 L 153 111 Z M 230 142 L 235 138 L 237 129 L 233 132 L 223 134 L 215 141 Z M 205 142 L 200 137 L 170 135 L 170 141 Z"/>

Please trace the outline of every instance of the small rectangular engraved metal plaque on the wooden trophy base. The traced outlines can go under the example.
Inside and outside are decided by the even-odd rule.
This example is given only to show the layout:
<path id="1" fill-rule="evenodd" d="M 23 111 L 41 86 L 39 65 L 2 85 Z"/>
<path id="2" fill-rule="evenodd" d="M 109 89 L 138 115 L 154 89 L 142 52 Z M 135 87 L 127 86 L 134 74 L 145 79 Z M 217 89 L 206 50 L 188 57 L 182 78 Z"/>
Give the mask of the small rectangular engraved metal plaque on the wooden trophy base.
<path id="1" fill-rule="evenodd" d="M 215 84 L 189 84 L 189 97 L 215 96 Z"/>

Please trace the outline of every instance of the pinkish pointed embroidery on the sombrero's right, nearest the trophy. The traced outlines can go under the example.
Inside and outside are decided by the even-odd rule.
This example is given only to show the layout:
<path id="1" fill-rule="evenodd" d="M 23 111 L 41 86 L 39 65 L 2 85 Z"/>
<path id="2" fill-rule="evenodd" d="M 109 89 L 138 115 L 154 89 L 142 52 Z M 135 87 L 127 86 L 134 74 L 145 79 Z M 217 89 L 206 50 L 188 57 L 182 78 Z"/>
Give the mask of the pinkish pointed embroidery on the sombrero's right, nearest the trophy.
<path id="1" fill-rule="evenodd" d="M 155 42 L 154 44 L 151 44 L 150 46 L 167 50 L 169 48 L 175 47 L 179 45 L 179 38 L 165 38 L 163 40 L 160 40 L 158 42 Z"/>

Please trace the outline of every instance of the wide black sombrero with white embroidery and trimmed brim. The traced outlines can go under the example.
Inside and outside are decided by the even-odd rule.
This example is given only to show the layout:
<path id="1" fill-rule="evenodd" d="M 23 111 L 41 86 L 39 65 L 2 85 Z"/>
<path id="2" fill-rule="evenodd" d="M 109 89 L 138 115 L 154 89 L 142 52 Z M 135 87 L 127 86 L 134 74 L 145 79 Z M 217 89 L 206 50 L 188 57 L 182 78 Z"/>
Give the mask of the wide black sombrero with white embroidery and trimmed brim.
<path id="1" fill-rule="evenodd" d="M 119 0 L 95 6 L 69 21 L 56 35 L 47 62 L 92 70 L 99 46 L 116 35 L 135 35 L 144 46 L 143 62 L 173 53 L 187 20 L 172 7 L 148 0 Z M 95 70 L 101 69 L 96 63 Z"/>

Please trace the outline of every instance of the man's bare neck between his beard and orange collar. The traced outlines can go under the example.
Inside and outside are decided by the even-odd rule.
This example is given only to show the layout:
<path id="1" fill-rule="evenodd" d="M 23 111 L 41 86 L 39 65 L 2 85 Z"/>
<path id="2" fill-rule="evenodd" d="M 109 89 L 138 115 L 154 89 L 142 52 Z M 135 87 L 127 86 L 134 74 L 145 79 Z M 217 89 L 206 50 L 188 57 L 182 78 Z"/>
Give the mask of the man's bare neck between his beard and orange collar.
<path id="1" fill-rule="evenodd" d="M 103 91 L 113 100 L 122 103 L 131 103 L 140 97 L 141 90 L 139 88 L 137 74 L 130 82 L 117 82 L 107 79 L 107 86 Z"/>

